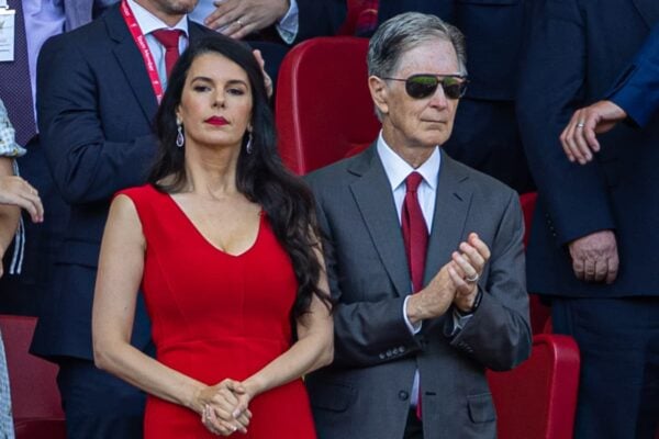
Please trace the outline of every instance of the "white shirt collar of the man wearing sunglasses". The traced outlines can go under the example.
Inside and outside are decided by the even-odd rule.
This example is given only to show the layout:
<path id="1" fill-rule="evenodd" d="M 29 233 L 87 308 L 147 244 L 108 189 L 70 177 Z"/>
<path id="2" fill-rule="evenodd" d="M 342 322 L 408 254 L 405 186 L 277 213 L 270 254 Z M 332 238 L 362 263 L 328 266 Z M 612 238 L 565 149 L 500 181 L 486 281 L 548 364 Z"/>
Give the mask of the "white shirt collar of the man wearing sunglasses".
<path id="1" fill-rule="evenodd" d="M 416 169 L 411 167 L 410 164 L 403 160 L 401 156 L 395 154 L 394 150 L 387 145 L 387 142 L 384 142 L 384 138 L 382 137 L 381 131 L 380 135 L 378 136 L 377 150 L 378 155 L 380 156 L 380 160 L 382 161 L 382 166 L 384 167 L 384 173 L 387 173 L 387 178 L 391 184 L 392 192 L 400 187 L 405 181 L 407 176 L 413 171 L 421 173 L 423 180 L 431 187 L 433 191 L 437 189 L 437 180 L 439 179 L 439 165 L 442 162 L 442 155 L 439 154 L 438 146 L 435 147 L 435 150 L 431 157 L 428 157 L 428 159 Z"/>

